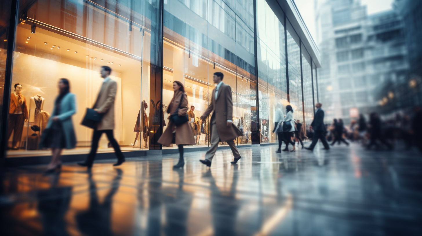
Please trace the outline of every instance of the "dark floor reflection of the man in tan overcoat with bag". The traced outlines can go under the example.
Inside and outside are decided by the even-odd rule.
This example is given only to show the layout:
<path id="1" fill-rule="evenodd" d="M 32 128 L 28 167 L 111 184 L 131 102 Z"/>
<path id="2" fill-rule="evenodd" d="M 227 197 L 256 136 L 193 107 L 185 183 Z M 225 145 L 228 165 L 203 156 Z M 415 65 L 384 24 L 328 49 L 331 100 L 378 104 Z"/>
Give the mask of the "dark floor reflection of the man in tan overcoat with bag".
<path id="1" fill-rule="evenodd" d="M 92 180 L 92 173 L 89 172 L 89 208 L 84 212 L 76 214 L 76 223 L 79 230 L 84 235 L 93 236 L 112 236 L 111 231 L 111 206 L 113 204 L 113 196 L 117 193 L 122 180 L 123 171 L 116 169 L 116 176 L 111 182 L 111 189 L 100 203 L 97 195 L 97 187 Z"/>

